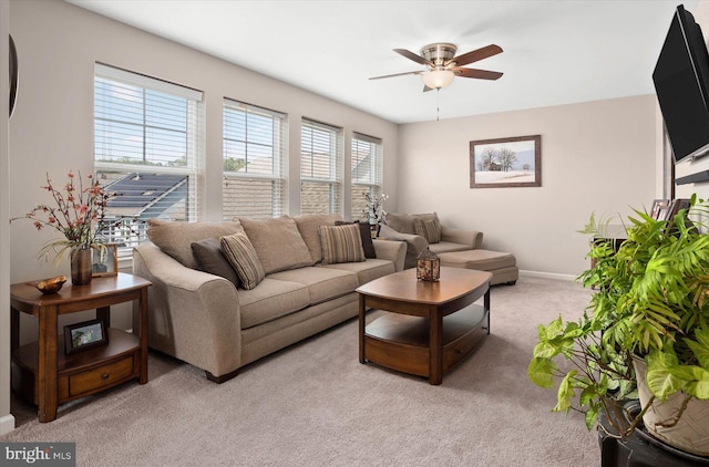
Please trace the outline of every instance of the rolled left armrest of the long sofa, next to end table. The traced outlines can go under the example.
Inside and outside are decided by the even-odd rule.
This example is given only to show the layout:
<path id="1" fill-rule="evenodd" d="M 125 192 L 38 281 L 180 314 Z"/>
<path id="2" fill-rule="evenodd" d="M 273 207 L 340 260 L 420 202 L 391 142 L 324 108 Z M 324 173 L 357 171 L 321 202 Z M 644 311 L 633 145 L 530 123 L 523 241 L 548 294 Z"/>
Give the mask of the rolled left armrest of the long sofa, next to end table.
<path id="1" fill-rule="evenodd" d="M 242 319 L 228 280 L 183 266 L 153 243 L 133 250 L 133 273 L 150 280 L 148 343 L 220 376 L 240 366 Z"/>

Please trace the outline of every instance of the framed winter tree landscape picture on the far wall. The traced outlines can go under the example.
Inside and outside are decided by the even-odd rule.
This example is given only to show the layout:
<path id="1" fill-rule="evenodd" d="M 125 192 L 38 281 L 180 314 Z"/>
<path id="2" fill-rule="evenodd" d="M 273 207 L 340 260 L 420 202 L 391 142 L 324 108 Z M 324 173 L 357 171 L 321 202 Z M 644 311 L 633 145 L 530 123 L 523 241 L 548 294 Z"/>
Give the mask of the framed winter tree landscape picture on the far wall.
<path id="1" fill-rule="evenodd" d="M 470 142 L 470 187 L 542 186 L 542 135 Z"/>

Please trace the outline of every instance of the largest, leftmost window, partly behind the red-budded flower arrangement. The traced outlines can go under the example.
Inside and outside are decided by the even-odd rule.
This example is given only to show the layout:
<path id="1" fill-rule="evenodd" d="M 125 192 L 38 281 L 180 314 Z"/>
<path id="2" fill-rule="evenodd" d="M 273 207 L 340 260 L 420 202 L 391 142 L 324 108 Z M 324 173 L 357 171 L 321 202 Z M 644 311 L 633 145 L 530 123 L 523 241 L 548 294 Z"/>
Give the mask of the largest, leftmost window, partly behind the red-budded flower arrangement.
<path id="1" fill-rule="evenodd" d="M 196 220 L 202 121 L 202 92 L 96 64 L 94 167 L 120 195 L 102 235 L 120 257 L 146 239 L 147 219 Z"/>

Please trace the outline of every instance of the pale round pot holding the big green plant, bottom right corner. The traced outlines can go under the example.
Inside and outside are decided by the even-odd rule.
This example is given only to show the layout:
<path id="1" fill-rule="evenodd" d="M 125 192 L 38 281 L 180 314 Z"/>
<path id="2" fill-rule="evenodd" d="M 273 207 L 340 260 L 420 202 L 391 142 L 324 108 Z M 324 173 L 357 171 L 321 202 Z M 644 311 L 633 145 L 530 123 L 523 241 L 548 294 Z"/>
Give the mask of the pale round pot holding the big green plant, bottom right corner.
<path id="1" fill-rule="evenodd" d="M 640 405 L 645 407 L 653 397 L 645 382 L 647 365 L 644 360 L 636 357 L 633 359 L 633 363 L 638 380 Z M 655 399 L 653 406 L 643 416 L 645 428 L 670 446 L 699 456 L 709 456 L 709 401 L 692 398 L 677 425 L 658 426 L 675 419 L 684 399 L 684 393 L 675 393 L 666 402 Z"/>

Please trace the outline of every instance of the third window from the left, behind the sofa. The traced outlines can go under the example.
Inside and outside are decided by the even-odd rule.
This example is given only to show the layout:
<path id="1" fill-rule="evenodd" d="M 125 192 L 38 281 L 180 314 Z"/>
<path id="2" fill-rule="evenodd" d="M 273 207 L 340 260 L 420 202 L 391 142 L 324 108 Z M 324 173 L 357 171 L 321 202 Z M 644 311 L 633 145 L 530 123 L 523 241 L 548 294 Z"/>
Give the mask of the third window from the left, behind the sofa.
<path id="1" fill-rule="evenodd" d="M 342 131 L 304 120 L 300 129 L 300 214 L 342 212 Z"/>

